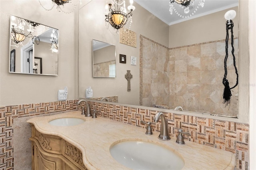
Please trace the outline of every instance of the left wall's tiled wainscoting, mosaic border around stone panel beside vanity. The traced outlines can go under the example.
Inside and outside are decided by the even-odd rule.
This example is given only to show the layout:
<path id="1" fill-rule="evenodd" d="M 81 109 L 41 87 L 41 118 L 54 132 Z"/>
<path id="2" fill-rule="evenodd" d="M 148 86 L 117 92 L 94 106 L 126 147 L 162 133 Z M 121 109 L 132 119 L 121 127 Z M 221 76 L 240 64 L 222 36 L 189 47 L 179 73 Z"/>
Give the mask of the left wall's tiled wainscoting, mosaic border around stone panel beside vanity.
<path id="1" fill-rule="evenodd" d="M 30 119 L 30 117 L 33 116 L 44 116 L 58 112 L 61 113 L 77 110 L 76 102 L 77 100 L 70 100 L 0 107 L 0 170 L 28 170 L 28 167 L 31 169 L 31 149 L 28 149 L 28 152 L 22 150 L 28 147 L 31 148 L 31 144 L 28 140 L 28 137 L 31 135 L 31 131 L 24 131 L 24 129 L 27 129 L 24 128 L 24 126 L 27 125 L 27 119 Z M 15 125 L 15 129 L 14 121 L 19 122 L 18 125 Z M 22 124 L 23 127 L 21 127 Z M 18 133 L 20 133 L 17 135 L 17 138 L 14 135 L 17 134 L 17 132 L 14 132 L 16 129 L 19 131 Z M 24 138 L 24 136 L 28 137 Z M 23 139 L 24 141 L 22 141 Z M 14 146 L 18 146 L 20 148 L 14 148 Z M 14 156 L 15 150 L 17 150 L 17 152 L 22 150 L 22 153 Z M 17 166 L 14 167 L 14 161 L 16 161 L 16 158 L 17 160 L 21 159 L 19 163 L 22 162 L 24 164 L 25 161 L 25 165 L 17 163 Z"/>

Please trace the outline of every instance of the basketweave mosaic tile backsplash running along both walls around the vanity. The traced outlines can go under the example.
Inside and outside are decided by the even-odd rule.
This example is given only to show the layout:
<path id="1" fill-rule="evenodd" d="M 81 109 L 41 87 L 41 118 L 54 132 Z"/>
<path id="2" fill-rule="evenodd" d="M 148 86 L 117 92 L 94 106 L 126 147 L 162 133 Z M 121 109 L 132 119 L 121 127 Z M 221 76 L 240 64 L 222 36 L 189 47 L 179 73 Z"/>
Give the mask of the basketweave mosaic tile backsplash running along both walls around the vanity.
<path id="1" fill-rule="evenodd" d="M 13 105 L 0 107 L 0 170 L 20 169 L 15 165 L 16 159 L 30 159 L 31 152 L 22 153 L 22 156 L 15 156 L 14 150 L 14 120 L 23 120 L 26 117 L 49 115 L 49 113 L 62 113 L 81 109 L 76 105 L 78 100 L 58 101 L 48 103 L 33 103 L 25 105 Z M 98 116 L 128 123 L 137 127 L 140 120 L 150 121 L 156 111 L 150 109 L 140 109 L 138 107 L 124 107 L 121 105 L 89 102 L 91 109 L 98 111 Z M 207 119 L 202 117 L 180 115 L 174 113 L 164 113 L 168 121 L 168 130 L 171 137 L 176 137 L 178 129 L 182 128 L 190 132 L 191 136 L 186 142 L 197 142 L 216 149 L 228 150 L 236 154 L 236 169 L 248 169 L 248 138 L 249 125 L 217 119 Z M 160 131 L 160 123 L 152 123 L 154 131 Z M 28 132 L 23 131 L 22 136 Z M 30 135 L 30 134 L 29 134 Z M 28 139 L 27 144 L 30 145 Z M 15 140 L 16 141 L 16 140 Z M 18 141 L 19 142 L 19 141 Z M 25 141 L 26 142 L 26 141 Z M 15 145 L 16 146 L 16 145 Z"/>

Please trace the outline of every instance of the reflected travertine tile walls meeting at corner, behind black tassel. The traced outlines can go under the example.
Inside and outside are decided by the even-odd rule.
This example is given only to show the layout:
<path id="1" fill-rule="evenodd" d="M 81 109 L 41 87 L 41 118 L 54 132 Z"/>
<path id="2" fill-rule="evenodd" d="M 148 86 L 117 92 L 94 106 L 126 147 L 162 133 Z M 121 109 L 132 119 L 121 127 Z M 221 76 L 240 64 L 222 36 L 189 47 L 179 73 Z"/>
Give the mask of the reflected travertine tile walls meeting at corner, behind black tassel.
<path id="1" fill-rule="evenodd" d="M 142 105 L 165 105 L 171 109 L 181 106 L 199 113 L 238 115 L 238 86 L 232 89 L 230 106 L 223 104 L 225 40 L 172 49 L 144 36 L 140 37 L 140 43 Z M 230 44 L 228 49 L 227 79 L 232 87 L 236 84 L 236 74 Z M 237 38 L 234 55 L 238 61 Z"/>

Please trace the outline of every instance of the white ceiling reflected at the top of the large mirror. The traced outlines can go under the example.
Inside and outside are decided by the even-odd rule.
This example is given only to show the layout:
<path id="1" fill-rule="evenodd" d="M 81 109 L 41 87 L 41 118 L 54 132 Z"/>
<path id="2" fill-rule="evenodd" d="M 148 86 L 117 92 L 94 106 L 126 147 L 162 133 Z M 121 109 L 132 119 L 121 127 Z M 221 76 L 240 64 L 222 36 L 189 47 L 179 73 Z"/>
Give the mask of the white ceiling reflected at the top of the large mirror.
<path id="1" fill-rule="evenodd" d="M 226 10 L 238 6 L 238 0 L 205 0 L 204 7 L 199 6 L 197 12 L 189 18 L 181 18 L 175 12 L 171 15 L 169 12 L 170 0 L 134 0 L 140 6 L 148 10 L 154 16 L 165 22 L 166 24 L 173 25 L 179 22 L 197 18 L 200 16 L 212 14 L 214 12 Z M 194 1 L 194 6 L 190 5 L 192 8 L 190 13 L 192 13 L 198 6 L 200 0 Z M 136 7 L 136 6 L 135 6 Z M 178 4 L 174 3 L 175 9 L 182 15 L 184 15 L 184 9 L 182 9 Z M 224 17 L 224 16 L 223 16 Z"/>

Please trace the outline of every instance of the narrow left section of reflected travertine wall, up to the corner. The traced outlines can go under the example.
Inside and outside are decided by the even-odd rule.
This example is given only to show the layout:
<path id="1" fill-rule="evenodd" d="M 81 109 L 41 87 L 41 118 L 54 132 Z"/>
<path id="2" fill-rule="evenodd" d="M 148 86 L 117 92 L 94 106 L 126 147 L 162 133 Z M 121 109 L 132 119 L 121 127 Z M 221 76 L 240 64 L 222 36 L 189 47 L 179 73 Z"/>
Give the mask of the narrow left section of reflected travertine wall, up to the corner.
<path id="1" fill-rule="evenodd" d="M 168 64 L 168 48 L 140 36 L 140 105 L 170 106 Z"/>

